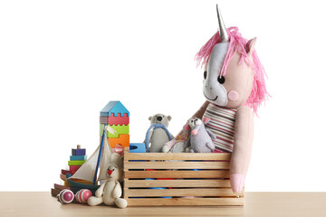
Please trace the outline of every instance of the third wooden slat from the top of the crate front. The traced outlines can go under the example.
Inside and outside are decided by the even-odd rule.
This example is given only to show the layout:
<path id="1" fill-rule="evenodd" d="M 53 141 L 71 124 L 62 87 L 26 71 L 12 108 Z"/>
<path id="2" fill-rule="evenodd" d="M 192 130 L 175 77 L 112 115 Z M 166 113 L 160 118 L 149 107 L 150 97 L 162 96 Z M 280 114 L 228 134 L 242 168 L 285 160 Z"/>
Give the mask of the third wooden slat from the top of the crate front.
<path id="1" fill-rule="evenodd" d="M 125 178 L 229 178 L 229 170 L 125 171 Z"/>

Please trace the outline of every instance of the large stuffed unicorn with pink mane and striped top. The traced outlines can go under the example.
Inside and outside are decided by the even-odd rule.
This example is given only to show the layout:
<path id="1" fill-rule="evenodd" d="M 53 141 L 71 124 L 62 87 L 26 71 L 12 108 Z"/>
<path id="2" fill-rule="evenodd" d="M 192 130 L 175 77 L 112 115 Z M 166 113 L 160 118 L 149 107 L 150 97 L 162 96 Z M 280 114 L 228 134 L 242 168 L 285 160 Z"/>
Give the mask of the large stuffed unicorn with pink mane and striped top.
<path id="1" fill-rule="evenodd" d="M 226 29 L 217 5 L 216 10 L 219 31 L 196 55 L 197 66 L 205 66 L 206 102 L 193 117 L 210 118 L 206 127 L 216 136 L 216 152 L 232 152 L 230 182 L 234 193 L 240 193 L 251 156 L 254 114 L 268 93 L 264 67 L 254 51 L 256 38 L 248 41 L 237 27 Z"/>

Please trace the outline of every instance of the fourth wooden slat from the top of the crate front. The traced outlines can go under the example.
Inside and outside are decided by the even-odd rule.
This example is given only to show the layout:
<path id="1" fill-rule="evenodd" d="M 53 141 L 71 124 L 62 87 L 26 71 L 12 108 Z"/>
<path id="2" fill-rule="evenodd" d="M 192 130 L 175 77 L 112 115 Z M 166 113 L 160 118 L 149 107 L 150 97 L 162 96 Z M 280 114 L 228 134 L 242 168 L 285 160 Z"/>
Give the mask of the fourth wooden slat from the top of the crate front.
<path id="1" fill-rule="evenodd" d="M 201 179 L 201 180 L 128 180 L 125 186 L 129 188 L 144 187 L 231 187 L 230 180 Z"/>

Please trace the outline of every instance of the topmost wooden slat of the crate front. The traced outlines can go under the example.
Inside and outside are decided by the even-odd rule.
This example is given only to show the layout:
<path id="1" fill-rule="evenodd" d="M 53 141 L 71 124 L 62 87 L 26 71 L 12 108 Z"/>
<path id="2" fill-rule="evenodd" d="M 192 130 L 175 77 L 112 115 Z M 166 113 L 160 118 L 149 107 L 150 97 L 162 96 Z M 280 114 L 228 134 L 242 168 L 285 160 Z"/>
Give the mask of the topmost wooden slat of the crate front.
<path id="1" fill-rule="evenodd" d="M 129 160 L 221 160 L 229 161 L 231 153 L 125 153 Z"/>

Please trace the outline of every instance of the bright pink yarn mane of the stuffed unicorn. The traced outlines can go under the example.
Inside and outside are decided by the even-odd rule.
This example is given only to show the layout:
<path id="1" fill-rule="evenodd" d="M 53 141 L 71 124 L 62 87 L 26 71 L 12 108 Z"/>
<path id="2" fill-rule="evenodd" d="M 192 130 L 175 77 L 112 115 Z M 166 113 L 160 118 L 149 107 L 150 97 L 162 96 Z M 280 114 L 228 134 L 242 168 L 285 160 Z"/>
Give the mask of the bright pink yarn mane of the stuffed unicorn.
<path id="1" fill-rule="evenodd" d="M 248 42 L 247 39 L 242 37 L 241 33 L 238 32 L 237 27 L 230 27 L 227 29 L 228 36 L 230 38 L 230 45 L 226 52 L 225 61 L 221 70 L 221 74 L 225 75 L 227 65 L 231 58 L 235 55 L 235 52 L 239 52 L 241 55 L 240 64 L 244 62 L 249 65 L 254 70 L 254 84 L 253 90 L 246 101 L 246 105 L 254 110 L 254 114 L 257 115 L 257 109 L 262 105 L 262 103 L 268 99 L 269 94 L 266 90 L 266 85 L 264 77 L 266 73 L 264 71 L 264 66 L 259 61 L 257 52 L 253 52 L 253 61 L 250 61 L 245 49 L 245 45 Z M 197 52 L 195 60 L 197 61 L 197 67 L 201 64 L 201 67 L 206 65 L 209 60 L 210 54 L 216 43 L 221 42 L 219 32 L 215 33 L 211 39 L 206 42 L 206 44 Z"/>

